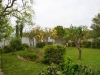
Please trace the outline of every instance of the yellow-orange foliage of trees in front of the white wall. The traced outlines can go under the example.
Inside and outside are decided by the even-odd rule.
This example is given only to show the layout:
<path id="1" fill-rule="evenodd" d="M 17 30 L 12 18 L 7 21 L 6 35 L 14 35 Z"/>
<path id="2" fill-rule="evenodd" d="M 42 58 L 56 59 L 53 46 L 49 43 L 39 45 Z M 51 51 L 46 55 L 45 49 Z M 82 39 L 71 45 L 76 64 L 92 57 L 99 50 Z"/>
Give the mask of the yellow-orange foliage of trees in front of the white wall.
<path id="1" fill-rule="evenodd" d="M 41 42 L 41 40 L 43 40 L 43 42 L 48 43 L 48 38 L 49 37 L 56 38 L 57 37 L 56 34 L 57 32 L 55 29 L 51 29 L 51 28 L 43 29 L 40 26 L 37 26 L 28 33 L 28 36 L 31 41 L 34 41 L 35 38 L 37 43 Z M 24 33 L 24 35 L 26 34 Z"/>

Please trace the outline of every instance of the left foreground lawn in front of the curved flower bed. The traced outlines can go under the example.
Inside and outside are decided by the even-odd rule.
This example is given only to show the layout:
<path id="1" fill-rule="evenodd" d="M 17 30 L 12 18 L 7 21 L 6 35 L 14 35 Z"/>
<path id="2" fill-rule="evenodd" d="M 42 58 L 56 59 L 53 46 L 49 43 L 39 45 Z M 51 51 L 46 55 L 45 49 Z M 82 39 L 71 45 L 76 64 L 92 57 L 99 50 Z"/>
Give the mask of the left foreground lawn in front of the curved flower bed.
<path id="1" fill-rule="evenodd" d="M 17 55 L 12 55 L 12 53 L 2 54 L 1 56 L 5 75 L 37 75 L 46 67 L 41 63 L 19 59 Z"/>

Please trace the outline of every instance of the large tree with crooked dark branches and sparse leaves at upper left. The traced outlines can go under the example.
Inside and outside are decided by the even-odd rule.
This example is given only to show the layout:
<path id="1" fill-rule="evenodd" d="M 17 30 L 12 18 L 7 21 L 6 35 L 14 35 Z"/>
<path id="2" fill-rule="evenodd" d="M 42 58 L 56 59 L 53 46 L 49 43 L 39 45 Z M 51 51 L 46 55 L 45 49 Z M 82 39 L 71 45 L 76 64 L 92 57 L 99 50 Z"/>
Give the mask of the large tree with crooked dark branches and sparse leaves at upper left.
<path id="1" fill-rule="evenodd" d="M 34 24 L 32 5 L 33 0 L 20 0 L 20 2 L 18 0 L 0 0 L 0 23 L 4 25 L 5 18 L 8 18 L 6 22 L 10 22 L 10 18 L 15 17 L 20 22 L 20 36 L 22 36 L 24 25 Z"/>

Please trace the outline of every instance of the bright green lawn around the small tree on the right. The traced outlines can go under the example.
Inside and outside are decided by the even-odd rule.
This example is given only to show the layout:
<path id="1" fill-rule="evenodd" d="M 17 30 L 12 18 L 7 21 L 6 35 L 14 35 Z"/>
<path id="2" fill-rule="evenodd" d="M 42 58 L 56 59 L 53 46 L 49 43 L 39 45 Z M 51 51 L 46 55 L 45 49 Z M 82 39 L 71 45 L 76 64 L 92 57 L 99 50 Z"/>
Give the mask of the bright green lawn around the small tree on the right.
<path id="1" fill-rule="evenodd" d="M 70 57 L 75 63 L 100 70 L 100 49 L 82 48 L 82 59 L 77 60 L 77 48 L 67 47 L 65 59 L 67 57 Z"/>

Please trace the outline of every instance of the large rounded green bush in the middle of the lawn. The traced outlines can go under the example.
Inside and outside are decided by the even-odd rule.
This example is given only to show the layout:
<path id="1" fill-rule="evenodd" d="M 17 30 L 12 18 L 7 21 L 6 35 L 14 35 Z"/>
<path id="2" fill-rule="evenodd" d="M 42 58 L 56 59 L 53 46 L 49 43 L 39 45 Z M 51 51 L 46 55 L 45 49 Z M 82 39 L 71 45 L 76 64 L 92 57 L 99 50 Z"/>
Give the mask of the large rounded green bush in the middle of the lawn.
<path id="1" fill-rule="evenodd" d="M 44 64 L 59 64 L 64 61 L 64 54 L 66 49 L 62 45 L 47 45 L 44 47 Z"/>

